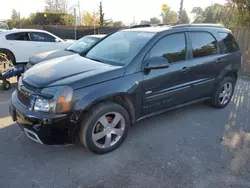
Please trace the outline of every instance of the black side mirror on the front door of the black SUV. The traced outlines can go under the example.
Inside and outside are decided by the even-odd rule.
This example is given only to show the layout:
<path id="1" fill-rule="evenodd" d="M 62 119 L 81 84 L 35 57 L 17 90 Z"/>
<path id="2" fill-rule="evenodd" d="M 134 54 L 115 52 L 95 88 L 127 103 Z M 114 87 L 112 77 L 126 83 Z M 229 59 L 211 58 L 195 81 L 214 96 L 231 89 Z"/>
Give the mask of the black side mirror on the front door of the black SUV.
<path id="1" fill-rule="evenodd" d="M 165 69 L 168 68 L 170 66 L 168 60 L 164 57 L 152 57 L 149 62 L 148 65 L 146 65 L 146 67 L 144 68 L 145 70 L 151 70 L 151 69 Z"/>

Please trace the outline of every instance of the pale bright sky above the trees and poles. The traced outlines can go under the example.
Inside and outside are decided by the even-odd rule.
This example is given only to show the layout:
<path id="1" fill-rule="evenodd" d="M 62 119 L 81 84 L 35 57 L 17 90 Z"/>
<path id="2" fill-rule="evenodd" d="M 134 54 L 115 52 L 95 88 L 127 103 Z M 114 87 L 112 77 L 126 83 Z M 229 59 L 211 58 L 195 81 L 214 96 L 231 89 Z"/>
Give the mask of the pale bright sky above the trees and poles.
<path id="1" fill-rule="evenodd" d="M 140 20 L 148 20 L 151 17 L 159 17 L 161 5 L 167 4 L 173 10 L 178 11 L 180 0 L 102 0 L 105 18 L 114 21 L 122 21 L 126 24 Z M 4 7 L 0 8 L 0 20 L 9 19 L 12 9 L 21 13 L 21 17 L 27 17 L 32 12 L 44 10 L 45 0 L 4 0 Z M 68 0 L 69 7 L 76 4 L 78 0 Z M 98 10 L 100 0 L 80 0 L 81 10 Z M 184 0 L 184 8 L 190 12 L 194 6 L 206 7 L 212 3 L 225 3 L 226 0 Z"/>

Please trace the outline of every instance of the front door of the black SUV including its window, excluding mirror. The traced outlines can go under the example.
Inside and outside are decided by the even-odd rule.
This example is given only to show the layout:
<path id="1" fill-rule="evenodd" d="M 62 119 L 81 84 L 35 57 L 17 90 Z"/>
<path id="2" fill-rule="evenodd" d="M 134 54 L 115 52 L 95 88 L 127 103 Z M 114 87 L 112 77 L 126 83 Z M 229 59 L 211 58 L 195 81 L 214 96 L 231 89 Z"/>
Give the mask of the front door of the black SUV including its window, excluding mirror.
<path id="1" fill-rule="evenodd" d="M 190 100 L 185 33 L 170 34 L 161 38 L 146 59 L 159 56 L 166 58 L 170 66 L 144 72 L 144 115 Z"/>

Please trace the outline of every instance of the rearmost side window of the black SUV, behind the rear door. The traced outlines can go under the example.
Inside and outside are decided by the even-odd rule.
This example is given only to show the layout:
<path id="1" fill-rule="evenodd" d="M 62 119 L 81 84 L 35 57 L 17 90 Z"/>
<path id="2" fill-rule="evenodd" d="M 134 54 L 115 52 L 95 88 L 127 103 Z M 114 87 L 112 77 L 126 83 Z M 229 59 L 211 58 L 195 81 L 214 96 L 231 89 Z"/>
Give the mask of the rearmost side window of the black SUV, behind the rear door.
<path id="1" fill-rule="evenodd" d="M 219 32 L 219 35 L 221 38 L 221 42 L 223 42 L 226 47 L 225 49 L 223 49 L 224 52 L 232 53 L 240 51 L 240 48 L 231 33 Z"/>

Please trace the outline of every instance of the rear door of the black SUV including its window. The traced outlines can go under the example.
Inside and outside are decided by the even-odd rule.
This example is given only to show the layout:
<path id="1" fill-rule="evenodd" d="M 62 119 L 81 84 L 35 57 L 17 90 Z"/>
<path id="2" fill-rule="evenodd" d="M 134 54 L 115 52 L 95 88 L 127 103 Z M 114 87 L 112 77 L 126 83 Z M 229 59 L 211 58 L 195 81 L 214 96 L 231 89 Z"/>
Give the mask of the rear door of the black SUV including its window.
<path id="1" fill-rule="evenodd" d="M 191 58 L 189 79 L 192 100 L 209 97 L 214 88 L 215 79 L 227 65 L 221 54 L 216 38 L 210 32 L 189 32 Z"/>

